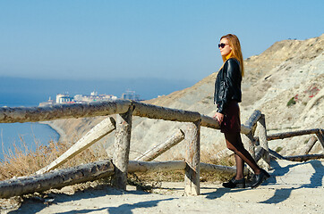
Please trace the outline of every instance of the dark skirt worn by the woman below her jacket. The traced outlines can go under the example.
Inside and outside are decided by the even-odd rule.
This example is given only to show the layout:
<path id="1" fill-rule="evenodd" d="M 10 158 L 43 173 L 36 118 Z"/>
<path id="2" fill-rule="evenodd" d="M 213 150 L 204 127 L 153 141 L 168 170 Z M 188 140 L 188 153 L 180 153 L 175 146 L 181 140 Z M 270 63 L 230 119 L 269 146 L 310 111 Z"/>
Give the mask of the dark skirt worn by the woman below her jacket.
<path id="1" fill-rule="evenodd" d="M 241 132 L 240 107 L 237 101 L 232 100 L 226 105 L 220 131 L 222 133 Z"/>

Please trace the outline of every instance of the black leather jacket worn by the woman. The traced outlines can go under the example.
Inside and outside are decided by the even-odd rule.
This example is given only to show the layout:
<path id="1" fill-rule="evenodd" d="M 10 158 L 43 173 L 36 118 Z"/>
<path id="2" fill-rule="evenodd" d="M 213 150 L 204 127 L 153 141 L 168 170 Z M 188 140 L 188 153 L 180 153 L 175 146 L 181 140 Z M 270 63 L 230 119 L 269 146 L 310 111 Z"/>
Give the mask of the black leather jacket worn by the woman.
<path id="1" fill-rule="evenodd" d="M 240 62 L 234 58 L 228 59 L 219 70 L 215 81 L 214 103 L 217 104 L 217 112 L 224 114 L 226 105 L 231 100 L 237 103 L 242 101 L 241 82 Z"/>

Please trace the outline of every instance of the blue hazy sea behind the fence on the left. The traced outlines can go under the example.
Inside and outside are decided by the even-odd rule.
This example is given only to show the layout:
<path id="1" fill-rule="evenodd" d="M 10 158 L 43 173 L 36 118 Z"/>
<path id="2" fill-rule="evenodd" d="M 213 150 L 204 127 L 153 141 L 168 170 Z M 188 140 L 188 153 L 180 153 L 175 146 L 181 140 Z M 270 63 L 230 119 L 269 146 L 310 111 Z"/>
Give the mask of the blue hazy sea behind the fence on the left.
<path id="1" fill-rule="evenodd" d="M 49 98 L 55 99 L 57 94 L 90 95 L 93 91 L 98 95 L 121 97 L 127 90 L 132 90 L 140 95 L 140 99 L 149 100 L 193 84 L 193 80 L 161 78 L 77 80 L 0 77 L 0 107 L 38 106 Z M 5 161 L 7 155 L 15 155 L 15 148 L 35 151 L 37 144 L 47 145 L 58 139 L 58 133 L 47 124 L 0 123 L 0 162 Z"/>

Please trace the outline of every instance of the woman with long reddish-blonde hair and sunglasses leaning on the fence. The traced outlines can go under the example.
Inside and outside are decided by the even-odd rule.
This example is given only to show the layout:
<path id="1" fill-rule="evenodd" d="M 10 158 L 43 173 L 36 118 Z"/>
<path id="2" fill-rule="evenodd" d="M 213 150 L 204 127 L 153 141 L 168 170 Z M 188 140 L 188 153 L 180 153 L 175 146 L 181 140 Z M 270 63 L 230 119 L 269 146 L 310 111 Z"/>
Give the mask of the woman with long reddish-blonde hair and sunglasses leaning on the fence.
<path id="1" fill-rule="evenodd" d="M 217 112 L 214 116 L 220 124 L 220 130 L 225 135 L 226 146 L 235 155 L 236 176 L 223 183 L 227 188 L 245 188 L 243 176 L 244 162 L 254 171 L 252 188 L 258 187 L 269 178 L 268 172 L 260 169 L 251 154 L 244 149 L 240 131 L 241 82 L 243 77 L 243 56 L 239 39 L 233 34 L 221 37 L 218 45 L 224 64 L 218 71 L 215 82 L 214 103 L 217 104 Z"/>

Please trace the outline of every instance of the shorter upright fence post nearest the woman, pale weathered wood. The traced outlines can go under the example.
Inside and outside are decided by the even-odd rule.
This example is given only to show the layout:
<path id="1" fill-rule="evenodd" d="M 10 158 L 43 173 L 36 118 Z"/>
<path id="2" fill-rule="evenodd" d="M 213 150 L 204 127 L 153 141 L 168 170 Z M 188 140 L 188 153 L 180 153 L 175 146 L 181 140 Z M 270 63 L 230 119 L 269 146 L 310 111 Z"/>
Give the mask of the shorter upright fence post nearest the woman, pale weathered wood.
<path id="1" fill-rule="evenodd" d="M 189 123 L 184 131 L 186 142 L 184 193 L 200 194 L 200 120 Z"/>

